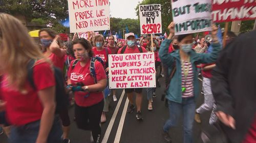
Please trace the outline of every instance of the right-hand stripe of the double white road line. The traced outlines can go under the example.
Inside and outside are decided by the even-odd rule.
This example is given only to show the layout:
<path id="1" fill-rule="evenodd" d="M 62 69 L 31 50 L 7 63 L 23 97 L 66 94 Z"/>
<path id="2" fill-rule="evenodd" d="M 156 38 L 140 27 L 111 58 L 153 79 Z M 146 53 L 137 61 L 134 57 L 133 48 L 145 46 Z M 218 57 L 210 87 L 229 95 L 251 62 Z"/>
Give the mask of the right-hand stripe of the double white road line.
<path id="1" fill-rule="evenodd" d="M 119 143 L 119 141 L 120 141 L 122 130 L 123 130 L 123 123 L 124 123 L 124 120 L 125 120 L 128 104 L 129 104 L 129 99 L 126 98 L 126 101 L 125 101 L 125 104 L 124 104 L 124 107 L 123 107 L 122 116 L 121 116 L 121 119 L 120 119 L 120 122 L 119 122 L 119 125 L 118 125 L 118 129 L 117 129 L 117 132 L 116 132 L 116 137 L 115 137 L 114 143 Z"/>

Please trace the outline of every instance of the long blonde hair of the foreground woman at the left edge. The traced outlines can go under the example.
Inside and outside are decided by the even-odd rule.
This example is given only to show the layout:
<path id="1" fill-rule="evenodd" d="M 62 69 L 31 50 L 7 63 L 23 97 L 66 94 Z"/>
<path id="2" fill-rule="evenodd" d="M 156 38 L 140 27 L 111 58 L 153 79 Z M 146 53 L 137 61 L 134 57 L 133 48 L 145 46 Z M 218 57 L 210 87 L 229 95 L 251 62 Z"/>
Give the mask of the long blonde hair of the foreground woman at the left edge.
<path id="1" fill-rule="evenodd" d="M 0 57 L 8 85 L 25 90 L 27 65 L 31 59 L 43 59 L 39 47 L 32 41 L 28 30 L 15 17 L 0 13 Z"/>

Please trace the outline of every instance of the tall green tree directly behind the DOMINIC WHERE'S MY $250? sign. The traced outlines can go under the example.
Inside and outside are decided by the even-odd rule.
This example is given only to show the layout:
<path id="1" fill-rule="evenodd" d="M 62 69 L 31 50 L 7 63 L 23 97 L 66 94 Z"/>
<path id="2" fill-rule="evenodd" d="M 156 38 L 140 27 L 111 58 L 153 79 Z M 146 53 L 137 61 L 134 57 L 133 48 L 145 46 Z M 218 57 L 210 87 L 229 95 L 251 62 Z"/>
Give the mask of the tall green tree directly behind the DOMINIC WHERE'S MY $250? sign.
<path id="1" fill-rule="evenodd" d="M 162 32 L 168 32 L 168 25 L 173 20 L 172 15 L 172 4 L 170 0 L 144 0 L 139 3 L 136 7 L 136 13 L 139 18 L 139 5 L 152 5 L 152 4 L 161 4 L 161 13 L 162 13 Z"/>

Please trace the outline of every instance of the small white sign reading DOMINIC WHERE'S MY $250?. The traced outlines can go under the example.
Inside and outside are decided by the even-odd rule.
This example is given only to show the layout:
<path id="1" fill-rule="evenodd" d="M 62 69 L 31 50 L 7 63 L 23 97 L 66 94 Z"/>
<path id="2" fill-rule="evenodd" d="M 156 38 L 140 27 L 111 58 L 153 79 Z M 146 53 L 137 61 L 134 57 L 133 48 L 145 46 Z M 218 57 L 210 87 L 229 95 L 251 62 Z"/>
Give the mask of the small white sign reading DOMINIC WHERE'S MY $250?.
<path id="1" fill-rule="evenodd" d="M 162 33 L 161 5 L 141 5 L 140 14 L 140 33 L 157 34 Z"/>

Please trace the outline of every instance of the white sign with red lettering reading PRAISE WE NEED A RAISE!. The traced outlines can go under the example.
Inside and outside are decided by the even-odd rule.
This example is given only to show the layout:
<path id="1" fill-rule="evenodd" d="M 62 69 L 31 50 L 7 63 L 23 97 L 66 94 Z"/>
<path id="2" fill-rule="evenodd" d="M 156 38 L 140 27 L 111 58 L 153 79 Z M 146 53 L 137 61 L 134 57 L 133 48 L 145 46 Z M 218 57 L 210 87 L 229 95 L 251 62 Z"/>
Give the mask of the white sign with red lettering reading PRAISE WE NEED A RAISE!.
<path id="1" fill-rule="evenodd" d="M 110 30 L 109 0 L 69 0 L 70 33 Z"/>

